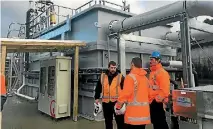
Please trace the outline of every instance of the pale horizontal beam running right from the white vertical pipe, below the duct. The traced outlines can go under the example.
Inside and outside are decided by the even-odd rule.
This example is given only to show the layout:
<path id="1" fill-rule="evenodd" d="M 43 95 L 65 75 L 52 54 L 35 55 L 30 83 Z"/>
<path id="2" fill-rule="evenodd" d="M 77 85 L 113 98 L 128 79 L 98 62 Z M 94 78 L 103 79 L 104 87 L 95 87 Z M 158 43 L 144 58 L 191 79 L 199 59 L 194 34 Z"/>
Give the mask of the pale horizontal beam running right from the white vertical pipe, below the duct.
<path id="1" fill-rule="evenodd" d="M 155 38 L 150 38 L 150 37 L 123 34 L 123 38 L 126 41 L 132 41 L 132 42 L 143 42 L 143 43 L 147 43 L 147 44 L 170 46 L 170 47 L 174 47 L 174 48 L 181 47 L 181 44 L 179 42 L 155 39 Z"/>

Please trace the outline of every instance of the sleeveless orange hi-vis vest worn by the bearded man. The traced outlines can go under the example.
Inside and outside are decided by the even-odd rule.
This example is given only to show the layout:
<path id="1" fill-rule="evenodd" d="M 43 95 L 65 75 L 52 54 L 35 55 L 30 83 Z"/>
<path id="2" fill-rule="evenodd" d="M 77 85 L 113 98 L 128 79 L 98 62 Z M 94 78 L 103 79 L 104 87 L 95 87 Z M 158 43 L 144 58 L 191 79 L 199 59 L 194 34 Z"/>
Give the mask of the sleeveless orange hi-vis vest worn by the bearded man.
<path id="1" fill-rule="evenodd" d="M 105 73 L 101 74 L 102 84 L 102 102 L 115 102 L 121 92 L 121 78 L 122 75 L 118 74 L 113 78 L 111 85 L 109 85 L 108 76 Z"/>

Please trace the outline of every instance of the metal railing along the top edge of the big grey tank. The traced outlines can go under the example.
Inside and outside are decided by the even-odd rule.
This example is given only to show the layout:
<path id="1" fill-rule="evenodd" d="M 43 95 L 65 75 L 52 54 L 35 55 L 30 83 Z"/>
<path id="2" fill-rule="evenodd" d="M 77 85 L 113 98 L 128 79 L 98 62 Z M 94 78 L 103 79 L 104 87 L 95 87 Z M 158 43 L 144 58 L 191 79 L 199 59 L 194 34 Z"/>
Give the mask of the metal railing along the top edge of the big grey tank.
<path id="1" fill-rule="evenodd" d="M 81 5 L 78 8 L 69 8 L 65 6 L 60 5 L 50 5 L 44 10 L 42 13 L 34 13 L 34 18 L 30 20 L 28 24 L 31 26 L 32 35 L 31 37 L 34 37 L 34 35 L 38 35 L 40 32 L 47 30 L 48 28 L 55 26 L 59 23 L 62 23 L 67 19 L 67 17 L 72 17 L 94 5 L 104 5 L 104 6 L 113 6 L 114 8 L 124 10 L 124 6 L 118 5 L 106 0 L 90 0 L 89 2 Z M 52 16 L 51 9 L 54 9 L 54 17 L 55 17 L 55 23 L 51 24 L 50 17 Z"/>

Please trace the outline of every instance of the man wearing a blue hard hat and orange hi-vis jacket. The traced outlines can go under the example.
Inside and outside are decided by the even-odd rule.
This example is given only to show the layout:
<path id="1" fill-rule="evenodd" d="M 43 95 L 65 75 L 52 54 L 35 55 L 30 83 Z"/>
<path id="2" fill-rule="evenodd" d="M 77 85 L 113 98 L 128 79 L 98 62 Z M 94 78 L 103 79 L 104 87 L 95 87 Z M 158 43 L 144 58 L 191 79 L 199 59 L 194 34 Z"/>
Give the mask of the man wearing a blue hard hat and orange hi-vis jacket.
<path id="1" fill-rule="evenodd" d="M 154 129 L 169 129 L 166 122 L 165 105 L 170 94 L 170 76 L 161 65 L 161 55 L 158 51 L 150 57 L 149 102 L 151 122 Z"/>

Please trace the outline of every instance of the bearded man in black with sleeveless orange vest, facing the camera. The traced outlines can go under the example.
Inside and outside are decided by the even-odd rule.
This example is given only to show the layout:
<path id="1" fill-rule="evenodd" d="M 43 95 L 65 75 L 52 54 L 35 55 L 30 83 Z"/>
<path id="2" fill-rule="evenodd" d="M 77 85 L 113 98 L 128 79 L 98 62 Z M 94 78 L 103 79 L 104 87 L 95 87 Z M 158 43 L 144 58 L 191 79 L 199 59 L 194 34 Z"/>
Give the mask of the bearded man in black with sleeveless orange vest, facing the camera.
<path id="1" fill-rule="evenodd" d="M 113 129 L 113 115 L 115 116 L 117 129 L 124 129 L 124 116 L 116 115 L 114 110 L 115 103 L 123 89 L 123 82 L 124 76 L 118 72 L 116 63 L 110 61 L 108 70 L 101 74 L 94 96 L 96 104 L 100 105 L 100 102 L 102 102 L 106 129 Z"/>

